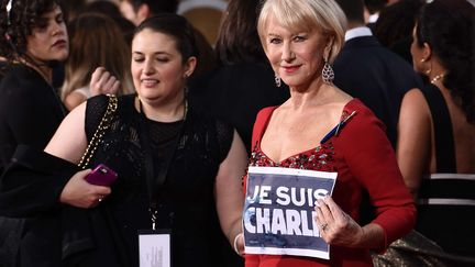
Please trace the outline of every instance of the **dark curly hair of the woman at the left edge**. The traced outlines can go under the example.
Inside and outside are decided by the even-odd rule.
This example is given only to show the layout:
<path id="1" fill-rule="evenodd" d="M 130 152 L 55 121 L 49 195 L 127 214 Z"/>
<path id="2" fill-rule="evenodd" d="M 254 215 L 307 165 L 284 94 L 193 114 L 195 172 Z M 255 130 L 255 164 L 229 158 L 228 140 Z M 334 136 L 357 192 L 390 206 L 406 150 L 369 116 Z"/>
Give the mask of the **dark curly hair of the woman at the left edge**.
<path id="1" fill-rule="evenodd" d="M 57 5 L 55 0 L 11 0 L 12 8 L 7 12 L 9 0 L 0 4 L 0 55 L 9 62 L 24 57 L 26 36 L 38 19 Z"/>

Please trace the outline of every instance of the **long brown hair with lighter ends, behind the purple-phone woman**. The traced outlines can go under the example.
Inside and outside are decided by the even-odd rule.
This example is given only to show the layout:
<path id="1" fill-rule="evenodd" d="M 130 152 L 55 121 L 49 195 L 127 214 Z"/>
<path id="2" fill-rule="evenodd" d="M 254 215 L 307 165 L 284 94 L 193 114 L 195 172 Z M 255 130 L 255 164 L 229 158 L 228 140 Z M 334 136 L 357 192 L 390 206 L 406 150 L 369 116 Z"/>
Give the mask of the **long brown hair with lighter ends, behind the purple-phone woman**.
<path id="1" fill-rule="evenodd" d="M 99 13 L 85 13 L 71 22 L 70 53 L 60 97 L 89 87 L 97 67 L 104 67 L 121 82 L 118 94 L 134 92 L 130 70 L 131 49 L 115 22 Z"/>

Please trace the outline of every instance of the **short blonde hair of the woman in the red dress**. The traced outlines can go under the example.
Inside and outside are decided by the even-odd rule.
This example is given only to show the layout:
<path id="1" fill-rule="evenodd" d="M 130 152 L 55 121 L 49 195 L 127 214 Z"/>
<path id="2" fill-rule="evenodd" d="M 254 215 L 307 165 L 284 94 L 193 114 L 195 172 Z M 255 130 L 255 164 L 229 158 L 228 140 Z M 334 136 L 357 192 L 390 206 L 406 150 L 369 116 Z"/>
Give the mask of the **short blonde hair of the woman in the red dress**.
<path id="1" fill-rule="evenodd" d="M 281 26 L 296 32 L 319 29 L 332 37 L 329 63 L 333 63 L 344 44 L 346 16 L 334 0 L 267 0 L 262 7 L 257 21 L 261 43 L 266 49 L 265 34 L 269 18 L 278 18 Z"/>

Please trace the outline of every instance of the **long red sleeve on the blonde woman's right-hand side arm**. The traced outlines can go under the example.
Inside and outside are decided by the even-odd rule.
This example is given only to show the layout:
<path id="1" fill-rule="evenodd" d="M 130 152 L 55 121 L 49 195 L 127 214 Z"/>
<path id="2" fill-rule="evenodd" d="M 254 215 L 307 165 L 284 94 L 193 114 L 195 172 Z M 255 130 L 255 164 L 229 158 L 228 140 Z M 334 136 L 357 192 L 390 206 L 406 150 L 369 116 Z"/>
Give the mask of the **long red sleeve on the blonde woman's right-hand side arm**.
<path id="1" fill-rule="evenodd" d="M 386 248 L 413 229 L 416 205 L 383 123 L 360 101 L 352 101 L 347 109 L 356 110 L 356 114 L 334 140 L 334 146 L 357 182 L 368 191 L 376 209 L 373 223 L 383 227 Z"/>

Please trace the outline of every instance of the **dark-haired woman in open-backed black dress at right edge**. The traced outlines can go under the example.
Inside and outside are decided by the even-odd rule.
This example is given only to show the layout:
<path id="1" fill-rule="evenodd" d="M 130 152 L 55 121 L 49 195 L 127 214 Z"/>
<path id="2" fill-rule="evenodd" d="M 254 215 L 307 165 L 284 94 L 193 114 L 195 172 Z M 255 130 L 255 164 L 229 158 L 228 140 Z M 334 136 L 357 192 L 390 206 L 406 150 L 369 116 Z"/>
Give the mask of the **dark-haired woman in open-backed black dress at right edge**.
<path id="1" fill-rule="evenodd" d="M 416 229 L 446 253 L 472 257 L 474 24 L 475 7 L 466 0 L 434 0 L 422 8 L 411 54 L 415 69 L 430 84 L 406 94 L 399 122 L 412 125 L 411 136 L 398 147 L 406 183 L 419 202 Z"/>

